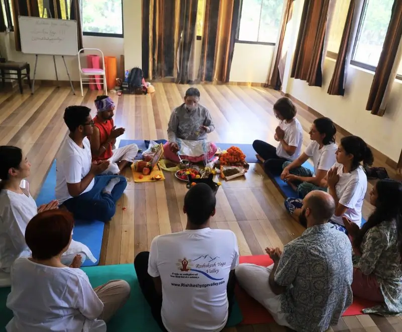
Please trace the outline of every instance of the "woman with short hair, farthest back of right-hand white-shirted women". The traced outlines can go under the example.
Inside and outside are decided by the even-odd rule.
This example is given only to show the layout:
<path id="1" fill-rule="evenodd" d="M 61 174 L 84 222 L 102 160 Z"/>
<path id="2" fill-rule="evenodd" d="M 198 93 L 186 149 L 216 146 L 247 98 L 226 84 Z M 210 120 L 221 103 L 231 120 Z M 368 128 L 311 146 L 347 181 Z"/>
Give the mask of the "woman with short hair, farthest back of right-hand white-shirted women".
<path id="1" fill-rule="evenodd" d="M 281 174 L 283 162 L 293 161 L 300 155 L 303 143 L 303 128 L 296 119 L 296 107 L 291 100 L 279 98 L 273 106 L 273 112 L 280 120 L 274 135 L 279 145 L 275 147 L 261 140 L 253 142 L 257 159 L 264 163 L 265 173 L 271 177 Z"/>

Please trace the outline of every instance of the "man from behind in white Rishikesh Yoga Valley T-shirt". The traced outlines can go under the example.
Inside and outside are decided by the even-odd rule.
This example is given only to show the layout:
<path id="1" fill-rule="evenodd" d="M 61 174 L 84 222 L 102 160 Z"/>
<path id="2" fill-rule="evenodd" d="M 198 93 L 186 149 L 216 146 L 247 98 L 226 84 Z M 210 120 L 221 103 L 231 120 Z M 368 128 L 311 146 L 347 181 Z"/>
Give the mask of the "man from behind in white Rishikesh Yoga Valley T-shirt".
<path id="1" fill-rule="evenodd" d="M 216 198 L 206 184 L 187 192 L 186 229 L 157 236 L 134 267 L 141 290 L 160 328 L 168 332 L 221 331 L 234 300 L 239 264 L 236 235 L 211 229 Z"/>

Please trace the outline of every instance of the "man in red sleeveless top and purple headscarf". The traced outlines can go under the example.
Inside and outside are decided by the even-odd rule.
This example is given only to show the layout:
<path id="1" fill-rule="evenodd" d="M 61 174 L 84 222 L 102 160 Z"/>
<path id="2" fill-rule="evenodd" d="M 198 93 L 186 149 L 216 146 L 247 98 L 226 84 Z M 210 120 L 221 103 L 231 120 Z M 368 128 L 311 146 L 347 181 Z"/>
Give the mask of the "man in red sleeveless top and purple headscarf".
<path id="1" fill-rule="evenodd" d="M 113 121 L 115 103 L 108 96 L 97 96 L 95 100 L 97 115 L 93 118 L 95 126 L 89 140 L 92 160 L 109 160 L 110 165 L 104 174 L 119 174 L 126 165 L 134 161 L 138 153 L 136 144 L 115 149 L 116 138 L 123 135 L 124 128 L 116 128 Z"/>

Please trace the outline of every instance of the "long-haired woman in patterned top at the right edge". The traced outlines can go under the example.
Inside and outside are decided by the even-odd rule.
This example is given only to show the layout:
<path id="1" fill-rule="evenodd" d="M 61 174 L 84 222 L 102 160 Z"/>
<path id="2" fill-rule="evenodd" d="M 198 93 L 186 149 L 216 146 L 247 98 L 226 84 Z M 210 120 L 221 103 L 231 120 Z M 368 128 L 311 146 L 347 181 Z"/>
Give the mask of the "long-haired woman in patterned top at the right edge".
<path id="1" fill-rule="evenodd" d="M 402 184 L 378 181 L 370 192 L 374 212 L 361 229 L 344 217 L 353 246 L 353 294 L 382 302 L 364 313 L 402 313 Z"/>

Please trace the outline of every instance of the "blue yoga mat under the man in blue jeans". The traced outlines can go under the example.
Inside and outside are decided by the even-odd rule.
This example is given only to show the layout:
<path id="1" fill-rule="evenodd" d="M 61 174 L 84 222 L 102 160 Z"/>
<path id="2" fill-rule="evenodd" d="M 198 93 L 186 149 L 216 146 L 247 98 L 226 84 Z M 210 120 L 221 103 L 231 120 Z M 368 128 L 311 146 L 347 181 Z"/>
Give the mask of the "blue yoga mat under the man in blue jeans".
<path id="1" fill-rule="evenodd" d="M 36 204 L 49 203 L 56 199 L 56 160 L 53 161 L 52 167 L 45 179 L 45 182 L 36 199 Z M 97 259 L 95 263 L 86 260 L 82 266 L 95 266 L 99 264 L 100 248 L 102 247 L 102 238 L 104 235 L 105 223 L 98 220 L 75 220 L 72 238 L 76 241 L 84 243 Z"/>

